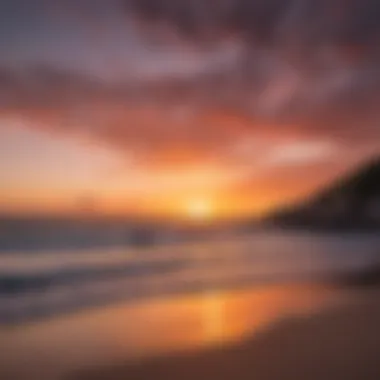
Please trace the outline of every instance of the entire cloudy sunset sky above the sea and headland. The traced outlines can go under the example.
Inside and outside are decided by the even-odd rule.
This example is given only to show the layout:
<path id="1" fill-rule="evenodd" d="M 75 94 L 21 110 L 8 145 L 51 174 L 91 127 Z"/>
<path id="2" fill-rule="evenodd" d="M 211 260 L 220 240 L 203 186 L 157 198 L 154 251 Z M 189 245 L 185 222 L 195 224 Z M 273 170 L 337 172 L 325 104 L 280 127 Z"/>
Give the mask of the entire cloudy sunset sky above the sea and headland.
<path id="1" fill-rule="evenodd" d="M 0 211 L 215 217 L 380 152 L 377 0 L 0 0 Z"/>

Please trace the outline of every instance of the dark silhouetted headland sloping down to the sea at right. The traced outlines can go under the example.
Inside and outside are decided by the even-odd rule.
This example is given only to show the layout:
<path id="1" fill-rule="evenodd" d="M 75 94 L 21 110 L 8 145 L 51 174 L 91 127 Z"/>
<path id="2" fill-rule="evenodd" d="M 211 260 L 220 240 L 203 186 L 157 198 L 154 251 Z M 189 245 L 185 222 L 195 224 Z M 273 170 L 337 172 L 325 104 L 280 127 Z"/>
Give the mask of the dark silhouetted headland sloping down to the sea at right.
<path id="1" fill-rule="evenodd" d="M 380 229 L 380 157 L 307 201 L 272 213 L 265 223 L 311 229 Z"/>

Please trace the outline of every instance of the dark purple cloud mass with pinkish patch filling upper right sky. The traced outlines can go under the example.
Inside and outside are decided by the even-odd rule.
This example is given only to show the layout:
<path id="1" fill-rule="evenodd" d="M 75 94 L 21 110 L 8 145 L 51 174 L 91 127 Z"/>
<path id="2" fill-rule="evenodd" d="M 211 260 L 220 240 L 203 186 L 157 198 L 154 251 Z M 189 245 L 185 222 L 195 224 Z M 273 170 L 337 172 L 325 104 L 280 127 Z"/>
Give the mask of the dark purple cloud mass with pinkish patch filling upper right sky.
<path id="1" fill-rule="evenodd" d="M 208 48 L 231 36 L 239 41 L 244 47 L 240 64 L 225 75 L 230 87 L 240 91 L 237 102 L 251 113 L 297 119 L 305 109 L 311 115 L 318 110 L 326 113 L 328 122 L 333 112 L 324 109 L 325 99 L 351 106 L 347 93 L 358 92 L 363 99 L 367 90 L 369 97 L 374 90 L 379 92 L 376 0 L 127 0 L 125 4 L 155 35 L 171 28 L 184 43 L 200 49 L 205 41 Z M 163 41 L 166 35 L 162 34 Z M 360 99 L 355 101 L 363 103 Z M 360 108 L 363 113 L 372 111 L 363 104 L 355 107 Z"/>

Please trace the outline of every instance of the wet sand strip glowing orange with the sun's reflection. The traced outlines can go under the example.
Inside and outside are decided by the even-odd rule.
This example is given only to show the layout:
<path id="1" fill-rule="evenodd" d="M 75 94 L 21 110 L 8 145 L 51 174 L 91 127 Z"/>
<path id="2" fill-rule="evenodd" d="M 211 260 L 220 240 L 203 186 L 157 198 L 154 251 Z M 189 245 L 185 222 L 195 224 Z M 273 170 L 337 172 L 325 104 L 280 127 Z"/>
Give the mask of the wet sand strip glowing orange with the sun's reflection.
<path id="1" fill-rule="evenodd" d="M 202 352 L 333 304 L 329 284 L 261 285 L 111 305 L 0 330 L 0 378 L 55 380 L 97 367 Z M 20 366 L 20 363 L 23 365 Z"/>

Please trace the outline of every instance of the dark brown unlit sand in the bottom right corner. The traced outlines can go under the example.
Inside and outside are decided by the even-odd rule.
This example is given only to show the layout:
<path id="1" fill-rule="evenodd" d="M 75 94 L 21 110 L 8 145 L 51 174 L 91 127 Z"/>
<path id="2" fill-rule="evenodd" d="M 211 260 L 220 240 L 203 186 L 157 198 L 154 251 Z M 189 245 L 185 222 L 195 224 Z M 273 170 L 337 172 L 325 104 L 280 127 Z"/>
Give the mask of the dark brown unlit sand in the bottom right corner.
<path id="1" fill-rule="evenodd" d="M 380 292 L 267 326 L 245 342 L 77 373 L 72 379 L 378 380 Z"/>

